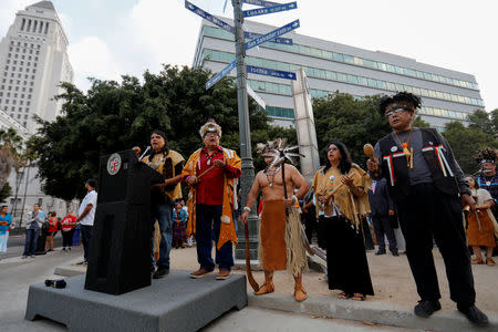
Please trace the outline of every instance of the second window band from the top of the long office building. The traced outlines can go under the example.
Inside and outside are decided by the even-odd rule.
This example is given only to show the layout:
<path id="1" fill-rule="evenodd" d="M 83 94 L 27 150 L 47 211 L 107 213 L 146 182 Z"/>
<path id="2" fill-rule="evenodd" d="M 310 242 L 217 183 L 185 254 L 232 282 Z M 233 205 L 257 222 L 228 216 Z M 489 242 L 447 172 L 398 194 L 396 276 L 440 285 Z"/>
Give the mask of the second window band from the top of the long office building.
<path id="1" fill-rule="evenodd" d="M 203 50 L 203 59 L 209 59 L 212 61 L 229 63 L 235 59 L 235 54 L 229 53 L 229 52 L 204 49 Z M 335 71 L 328 71 L 328 70 L 315 69 L 315 68 L 310 68 L 310 66 L 301 66 L 301 65 L 297 65 L 297 64 L 292 64 L 292 63 L 279 62 L 279 61 L 255 58 L 255 56 L 247 56 L 246 62 L 247 62 L 247 64 L 250 64 L 250 65 L 263 66 L 263 68 L 279 70 L 279 71 L 297 71 L 300 68 L 302 68 L 308 76 L 314 77 L 314 79 L 344 82 L 347 84 L 356 84 L 356 85 L 380 89 L 380 90 L 386 90 L 386 91 L 393 91 L 393 92 L 407 91 L 407 92 L 414 93 L 419 96 L 438 98 L 438 100 L 444 100 L 444 101 L 449 101 L 449 102 L 455 102 L 455 103 L 469 104 L 469 105 L 474 105 L 474 106 L 484 106 L 483 101 L 478 100 L 478 98 L 471 98 L 471 97 L 463 96 L 463 95 L 458 95 L 458 94 L 434 91 L 434 90 L 428 90 L 428 89 L 424 89 L 424 87 L 416 87 L 416 86 L 411 86 L 411 85 L 406 85 L 406 84 L 375 80 L 375 79 L 371 79 L 371 77 L 351 75 L 351 74 L 335 72 Z M 290 85 L 288 85 L 288 86 L 289 86 L 289 91 L 290 91 Z M 251 86 L 251 87 L 255 89 L 253 86 Z M 317 97 L 320 97 L 320 96 L 317 95 Z"/>

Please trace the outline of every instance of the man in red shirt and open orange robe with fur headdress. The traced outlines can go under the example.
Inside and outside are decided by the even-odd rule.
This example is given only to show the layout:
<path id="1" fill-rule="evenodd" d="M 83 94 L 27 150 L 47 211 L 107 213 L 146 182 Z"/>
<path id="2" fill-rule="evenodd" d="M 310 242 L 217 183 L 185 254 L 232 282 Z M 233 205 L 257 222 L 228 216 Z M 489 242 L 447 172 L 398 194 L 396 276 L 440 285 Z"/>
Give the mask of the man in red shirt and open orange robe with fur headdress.
<path id="1" fill-rule="evenodd" d="M 215 269 L 211 258 L 216 242 L 216 279 L 230 277 L 234 266 L 232 242 L 237 243 L 234 205 L 237 204 L 237 178 L 242 174 L 237 153 L 219 146 L 221 127 L 214 120 L 199 131 L 204 147 L 189 157 L 181 172 L 181 180 L 190 186 L 188 195 L 187 236 L 196 235 L 197 261 L 200 268 L 190 273 L 203 278 Z"/>

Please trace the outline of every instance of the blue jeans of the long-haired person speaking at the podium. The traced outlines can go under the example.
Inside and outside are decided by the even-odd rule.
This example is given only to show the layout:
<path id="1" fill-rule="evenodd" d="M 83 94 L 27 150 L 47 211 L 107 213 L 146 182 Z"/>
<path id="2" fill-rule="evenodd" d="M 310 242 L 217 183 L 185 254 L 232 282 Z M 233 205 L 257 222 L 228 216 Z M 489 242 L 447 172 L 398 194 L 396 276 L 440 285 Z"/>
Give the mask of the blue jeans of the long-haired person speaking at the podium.
<path id="1" fill-rule="evenodd" d="M 158 267 L 169 269 L 169 251 L 173 242 L 173 205 L 152 204 L 151 206 L 151 221 L 152 221 L 152 237 L 151 237 L 151 259 L 154 266 L 154 224 L 159 224 L 160 243 L 159 243 L 159 260 L 156 262 Z"/>

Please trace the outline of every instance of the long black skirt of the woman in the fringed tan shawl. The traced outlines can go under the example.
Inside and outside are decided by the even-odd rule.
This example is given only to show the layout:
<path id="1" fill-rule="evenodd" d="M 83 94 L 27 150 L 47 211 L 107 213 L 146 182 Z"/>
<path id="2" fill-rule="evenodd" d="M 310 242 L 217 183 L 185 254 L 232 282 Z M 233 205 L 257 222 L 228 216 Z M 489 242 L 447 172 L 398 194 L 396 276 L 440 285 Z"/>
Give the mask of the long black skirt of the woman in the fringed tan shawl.
<path id="1" fill-rule="evenodd" d="M 346 294 L 373 295 L 362 230 L 356 232 L 342 216 L 332 217 L 328 221 L 329 289 L 339 289 Z"/>

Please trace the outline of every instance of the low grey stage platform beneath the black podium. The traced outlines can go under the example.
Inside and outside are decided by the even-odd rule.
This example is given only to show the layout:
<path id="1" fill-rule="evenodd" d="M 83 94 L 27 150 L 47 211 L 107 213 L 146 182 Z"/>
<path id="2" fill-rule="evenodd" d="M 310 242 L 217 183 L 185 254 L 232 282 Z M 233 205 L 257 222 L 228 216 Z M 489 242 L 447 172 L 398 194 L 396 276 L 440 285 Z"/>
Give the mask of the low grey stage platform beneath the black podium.
<path id="1" fill-rule="evenodd" d="M 65 289 L 30 286 L 25 319 L 46 318 L 69 331 L 197 331 L 232 308 L 248 303 L 246 276 L 201 279 L 172 270 L 152 286 L 111 295 L 84 289 L 85 274 L 65 279 Z"/>

